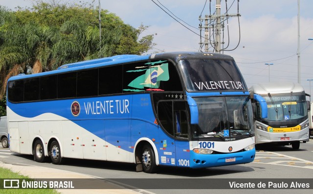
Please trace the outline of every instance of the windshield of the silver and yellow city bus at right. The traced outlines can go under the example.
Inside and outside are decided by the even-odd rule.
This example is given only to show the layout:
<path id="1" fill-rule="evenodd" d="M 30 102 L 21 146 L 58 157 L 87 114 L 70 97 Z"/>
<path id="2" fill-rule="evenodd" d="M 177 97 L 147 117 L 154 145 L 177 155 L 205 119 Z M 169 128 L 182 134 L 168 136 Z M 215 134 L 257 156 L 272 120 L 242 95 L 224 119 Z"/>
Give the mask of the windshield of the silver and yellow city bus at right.
<path id="1" fill-rule="evenodd" d="M 306 99 L 303 94 L 262 95 L 268 104 L 268 121 L 287 121 L 308 115 Z"/>

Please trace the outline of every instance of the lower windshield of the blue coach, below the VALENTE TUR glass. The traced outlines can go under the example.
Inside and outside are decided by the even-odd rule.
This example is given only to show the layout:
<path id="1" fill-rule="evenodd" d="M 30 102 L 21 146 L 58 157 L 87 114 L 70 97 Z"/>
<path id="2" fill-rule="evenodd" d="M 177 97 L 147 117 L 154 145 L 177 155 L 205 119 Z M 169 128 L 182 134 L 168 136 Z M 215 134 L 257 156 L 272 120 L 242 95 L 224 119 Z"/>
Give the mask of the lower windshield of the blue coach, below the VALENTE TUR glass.
<path id="1" fill-rule="evenodd" d="M 252 108 L 248 97 L 195 97 L 199 112 L 193 125 L 195 138 L 236 137 L 253 134 Z"/>

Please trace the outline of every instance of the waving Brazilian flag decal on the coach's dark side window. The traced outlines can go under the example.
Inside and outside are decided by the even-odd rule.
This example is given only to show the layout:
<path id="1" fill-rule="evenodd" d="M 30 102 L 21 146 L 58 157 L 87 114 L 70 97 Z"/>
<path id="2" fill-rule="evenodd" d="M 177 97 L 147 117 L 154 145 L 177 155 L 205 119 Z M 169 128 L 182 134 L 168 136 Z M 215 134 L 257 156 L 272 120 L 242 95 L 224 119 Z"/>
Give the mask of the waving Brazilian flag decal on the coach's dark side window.
<path id="1" fill-rule="evenodd" d="M 164 61 L 159 61 L 164 62 Z M 160 81 L 169 80 L 168 63 L 155 64 L 146 70 L 144 75 L 135 78 L 128 86 L 143 89 L 144 87 L 159 88 Z"/>

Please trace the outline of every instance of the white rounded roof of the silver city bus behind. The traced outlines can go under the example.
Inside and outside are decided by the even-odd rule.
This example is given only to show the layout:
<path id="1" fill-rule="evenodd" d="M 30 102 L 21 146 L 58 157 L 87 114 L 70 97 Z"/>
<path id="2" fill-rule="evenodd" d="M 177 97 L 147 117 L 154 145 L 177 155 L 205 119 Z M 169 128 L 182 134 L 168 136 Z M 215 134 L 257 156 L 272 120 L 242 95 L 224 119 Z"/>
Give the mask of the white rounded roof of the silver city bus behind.
<path id="1" fill-rule="evenodd" d="M 257 83 L 249 88 L 250 93 L 254 94 L 279 94 L 290 92 L 303 92 L 304 88 L 299 83 L 293 82 L 266 82 Z"/>

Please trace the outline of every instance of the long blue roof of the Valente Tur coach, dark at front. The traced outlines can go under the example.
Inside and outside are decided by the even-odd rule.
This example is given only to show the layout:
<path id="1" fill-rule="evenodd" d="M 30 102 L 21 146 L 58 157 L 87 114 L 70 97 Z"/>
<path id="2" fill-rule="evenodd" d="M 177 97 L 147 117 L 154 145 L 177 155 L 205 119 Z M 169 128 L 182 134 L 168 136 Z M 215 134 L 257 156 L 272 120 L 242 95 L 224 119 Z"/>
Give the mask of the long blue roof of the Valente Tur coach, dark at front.
<path id="1" fill-rule="evenodd" d="M 30 75 L 20 74 L 18 76 L 9 78 L 8 81 L 22 79 L 22 78 L 35 78 L 35 77 L 41 77 L 41 76 L 46 76 L 46 75 L 52 75 L 52 74 L 66 73 L 66 72 L 75 71 L 75 70 L 97 68 L 101 66 L 147 60 L 150 58 L 151 59 L 168 58 L 173 61 L 177 61 L 182 58 L 203 58 L 203 57 L 233 59 L 232 57 L 228 55 L 223 55 L 223 54 L 218 54 L 218 53 L 202 53 L 202 52 L 168 52 L 168 53 L 158 53 L 158 54 L 151 54 L 151 55 L 145 55 L 145 56 L 117 55 L 117 56 L 112 56 L 112 57 L 107 57 L 107 58 L 97 58 L 97 59 L 92 59 L 92 60 L 68 63 L 68 64 L 60 66 L 57 70 L 38 73 L 38 74 L 30 74 Z"/>

